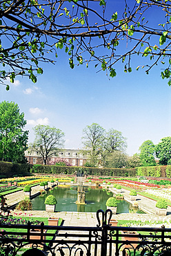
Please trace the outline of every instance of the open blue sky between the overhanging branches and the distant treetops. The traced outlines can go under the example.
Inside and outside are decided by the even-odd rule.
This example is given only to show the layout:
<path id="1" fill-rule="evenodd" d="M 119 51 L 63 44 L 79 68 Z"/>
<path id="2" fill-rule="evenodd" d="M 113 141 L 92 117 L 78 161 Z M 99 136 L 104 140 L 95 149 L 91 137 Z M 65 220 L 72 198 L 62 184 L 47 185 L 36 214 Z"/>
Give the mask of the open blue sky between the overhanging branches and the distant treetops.
<path id="1" fill-rule="evenodd" d="M 13 101 L 25 113 L 34 140 L 32 127 L 50 125 L 65 134 L 65 147 L 81 149 L 81 136 L 86 125 L 97 122 L 108 131 L 117 129 L 127 138 L 127 154 L 139 152 L 145 140 L 159 143 L 171 135 L 171 88 L 160 77 L 161 66 L 145 75 L 135 71 L 139 59 L 132 59 L 132 73 L 124 73 L 118 64 L 117 77 L 108 79 L 105 71 L 97 73 L 94 64 L 68 65 L 68 56 L 59 53 L 55 65 L 43 64 L 43 75 L 33 84 L 26 77 L 10 84 L 10 91 L 0 86 L 0 101 Z"/>

